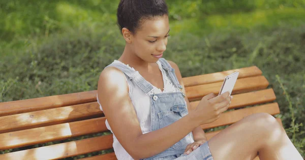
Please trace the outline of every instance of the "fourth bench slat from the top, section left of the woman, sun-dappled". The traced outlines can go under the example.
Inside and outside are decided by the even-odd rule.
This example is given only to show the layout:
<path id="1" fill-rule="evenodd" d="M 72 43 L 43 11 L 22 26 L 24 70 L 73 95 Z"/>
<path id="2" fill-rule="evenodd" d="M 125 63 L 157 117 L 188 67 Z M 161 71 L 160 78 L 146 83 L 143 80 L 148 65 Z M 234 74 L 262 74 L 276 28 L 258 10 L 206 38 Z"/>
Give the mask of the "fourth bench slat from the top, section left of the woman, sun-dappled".
<path id="1" fill-rule="evenodd" d="M 112 135 L 0 154 L 0 159 L 58 159 L 112 148 Z"/>

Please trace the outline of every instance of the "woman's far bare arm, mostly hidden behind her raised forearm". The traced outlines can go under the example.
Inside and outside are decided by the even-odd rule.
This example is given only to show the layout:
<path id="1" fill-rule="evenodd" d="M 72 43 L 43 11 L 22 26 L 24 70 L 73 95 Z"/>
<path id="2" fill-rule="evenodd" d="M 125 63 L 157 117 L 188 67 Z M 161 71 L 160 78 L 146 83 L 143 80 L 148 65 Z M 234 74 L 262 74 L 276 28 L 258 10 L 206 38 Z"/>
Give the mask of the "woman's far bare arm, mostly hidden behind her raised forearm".
<path id="1" fill-rule="evenodd" d="M 179 84 L 182 86 L 183 88 L 183 92 L 184 94 L 186 95 L 186 91 L 185 91 L 185 87 L 184 87 L 184 83 L 182 81 L 182 76 L 181 76 L 181 73 L 180 73 L 180 70 L 179 70 L 179 67 L 177 64 L 175 64 L 174 62 L 172 61 L 168 61 L 168 63 L 171 65 L 171 67 L 173 67 L 175 69 L 175 74 L 177 76 L 177 79 L 179 81 Z M 188 97 L 186 96 L 185 97 L 185 100 L 187 102 L 187 105 L 188 105 L 188 110 L 190 111 L 191 110 L 191 105 L 190 105 L 190 102 L 189 102 L 189 99 Z M 193 137 L 194 137 L 194 141 L 207 141 L 207 138 L 205 136 L 205 133 L 204 131 L 202 130 L 202 128 L 200 126 L 196 127 L 193 131 Z"/>

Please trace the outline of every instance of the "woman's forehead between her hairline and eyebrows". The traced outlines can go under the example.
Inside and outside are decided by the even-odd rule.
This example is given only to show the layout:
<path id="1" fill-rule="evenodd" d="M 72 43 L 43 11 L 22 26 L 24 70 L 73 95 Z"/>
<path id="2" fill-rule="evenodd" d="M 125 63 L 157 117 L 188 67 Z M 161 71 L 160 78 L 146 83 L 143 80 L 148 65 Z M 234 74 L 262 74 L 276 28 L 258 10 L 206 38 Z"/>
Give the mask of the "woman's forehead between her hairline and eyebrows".
<path id="1" fill-rule="evenodd" d="M 169 30 L 168 16 L 145 19 L 141 22 L 141 27 L 137 31 L 139 34 L 149 34 L 151 36 L 161 36 Z"/>

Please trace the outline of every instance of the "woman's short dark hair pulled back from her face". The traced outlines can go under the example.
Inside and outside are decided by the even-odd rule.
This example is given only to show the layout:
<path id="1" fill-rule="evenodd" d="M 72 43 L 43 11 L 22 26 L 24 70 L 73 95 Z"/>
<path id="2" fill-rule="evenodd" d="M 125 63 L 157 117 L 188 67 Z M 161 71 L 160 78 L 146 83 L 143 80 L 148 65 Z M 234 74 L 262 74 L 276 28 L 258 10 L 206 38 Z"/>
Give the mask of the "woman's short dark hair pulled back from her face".
<path id="1" fill-rule="evenodd" d="M 120 31 L 125 27 L 135 34 L 142 20 L 168 15 L 168 9 L 165 0 L 121 0 L 116 15 Z"/>

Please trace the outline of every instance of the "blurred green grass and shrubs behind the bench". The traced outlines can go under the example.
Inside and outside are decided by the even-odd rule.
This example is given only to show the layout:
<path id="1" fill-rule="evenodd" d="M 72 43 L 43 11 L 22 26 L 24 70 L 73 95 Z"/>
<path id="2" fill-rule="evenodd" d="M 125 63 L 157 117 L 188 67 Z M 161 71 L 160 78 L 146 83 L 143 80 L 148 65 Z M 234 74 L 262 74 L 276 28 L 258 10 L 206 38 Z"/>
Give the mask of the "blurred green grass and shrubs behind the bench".
<path id="1" fill-rule="evenodd" d="M 124 49 L 118 2 L 2 0 L 0 102 L 96 90 L 102 69 Z M 166 2 L 171 36 L 164 57 L 182 76 L 258 66 L 304 156 L 305 0 Z M 22 148 L 1 153 L 16 150 Z"/>

